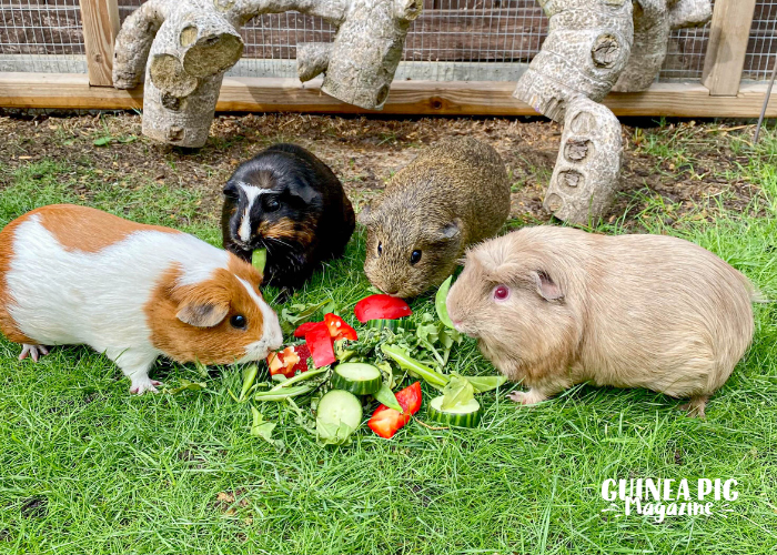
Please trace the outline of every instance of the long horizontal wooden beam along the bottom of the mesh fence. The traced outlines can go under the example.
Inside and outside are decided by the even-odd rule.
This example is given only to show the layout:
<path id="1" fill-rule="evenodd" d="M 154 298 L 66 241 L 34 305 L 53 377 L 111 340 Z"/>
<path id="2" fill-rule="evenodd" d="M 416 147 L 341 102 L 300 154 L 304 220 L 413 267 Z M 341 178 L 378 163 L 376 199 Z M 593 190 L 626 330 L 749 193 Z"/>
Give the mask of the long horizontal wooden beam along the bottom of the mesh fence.
<path id="1" fill-rule="evenodd" d="M 321 90 L 316 79 L 225 78 L 218 111 L 312 112 L 436 115 L 536 115 L 512 97 L 514 82 L 395 81 L 383 111 L 345 104 Z M 654 83 L 647 91 L 610 93 L 604 103 L 616 115 L 679 118 L 757 118 L 766 84 L 744 84 L 736 97 L 710 97 L 700 84 Z M 0 107 L 128 110 L 141 109 L 141 88 L 90 88 L 83 74 L 0 73 Z M 777 95 L 767 118 L 777 117 Z"/>

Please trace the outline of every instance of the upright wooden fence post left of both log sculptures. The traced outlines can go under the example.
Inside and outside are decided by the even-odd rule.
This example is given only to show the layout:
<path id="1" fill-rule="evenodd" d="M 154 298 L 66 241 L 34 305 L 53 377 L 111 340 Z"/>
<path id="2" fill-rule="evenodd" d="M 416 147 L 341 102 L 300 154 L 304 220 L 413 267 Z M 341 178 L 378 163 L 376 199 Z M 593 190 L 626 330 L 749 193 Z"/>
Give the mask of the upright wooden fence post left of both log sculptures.
<path id="1" fill-rule="evenodd" d="M 113 42 L 119 33 L 118 0 L 79 0 L 89 84 L 113 87 Z"/>

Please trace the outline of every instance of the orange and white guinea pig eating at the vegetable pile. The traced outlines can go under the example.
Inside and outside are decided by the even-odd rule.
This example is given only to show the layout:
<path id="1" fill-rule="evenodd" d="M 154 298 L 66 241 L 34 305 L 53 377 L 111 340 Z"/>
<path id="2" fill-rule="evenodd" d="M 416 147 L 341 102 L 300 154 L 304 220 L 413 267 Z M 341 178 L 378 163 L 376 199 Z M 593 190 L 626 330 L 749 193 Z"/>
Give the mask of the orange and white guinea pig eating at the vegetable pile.
<path id="1" fill-rule="evenodd" d="M 38 361 L 44 345 L 87 344 L 114 361 L 131 393 L 149 369 L 264 359 L 282 343 L 262 276 L 234 254 L 169 228 L 70 204 L 0 232 L 0 330 Z"/>

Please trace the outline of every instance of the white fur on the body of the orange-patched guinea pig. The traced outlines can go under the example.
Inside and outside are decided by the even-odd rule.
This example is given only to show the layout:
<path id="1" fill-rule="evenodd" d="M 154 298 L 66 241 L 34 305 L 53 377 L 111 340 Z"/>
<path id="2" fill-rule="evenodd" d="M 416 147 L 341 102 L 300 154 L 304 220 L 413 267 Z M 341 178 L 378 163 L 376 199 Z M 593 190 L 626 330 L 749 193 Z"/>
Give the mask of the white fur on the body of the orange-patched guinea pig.
<path id="1" fill-rule="evenodd" d="M 88 344 L 115 361 L 133 384 L 148 380 L 161 353 L 143 310 L 173 264 L 181 284 L 228 268 L 229 255 L 185 233 L 137 231 L 98 252 L 68 251 L 36 214 L 14 231 L 6 274 L 20 331 L 44 345 Z"/>

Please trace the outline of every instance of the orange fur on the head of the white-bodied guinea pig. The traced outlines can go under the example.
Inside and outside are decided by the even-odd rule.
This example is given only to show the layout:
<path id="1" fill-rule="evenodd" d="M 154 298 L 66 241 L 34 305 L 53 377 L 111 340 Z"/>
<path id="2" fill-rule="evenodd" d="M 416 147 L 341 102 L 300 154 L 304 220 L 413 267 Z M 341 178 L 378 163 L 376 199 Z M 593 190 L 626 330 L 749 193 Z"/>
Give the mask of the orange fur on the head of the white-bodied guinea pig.
<path id="1" fill-rule="evenodd" d="M 230 253 L 229 270 L 215 270 L 208 281 L 179 286 L 180 276 L 178 265 L 164 272 L 143 307 L 152 344 L 176 362 L 231 364 L 242 359 L 245 347 L 262 339 L 264 322 L 260 307 L 235 276 L 255 287 L 261 297 L 259 285 L 262 278 L 259 272 Z M 228 314 L 213 327 L 195 327 L 175 316 L 188 303 L 228 307 Z M 245 330 L 230 324 L 230 319 L 236 314 L 245 316 Z"/>

